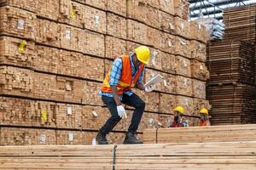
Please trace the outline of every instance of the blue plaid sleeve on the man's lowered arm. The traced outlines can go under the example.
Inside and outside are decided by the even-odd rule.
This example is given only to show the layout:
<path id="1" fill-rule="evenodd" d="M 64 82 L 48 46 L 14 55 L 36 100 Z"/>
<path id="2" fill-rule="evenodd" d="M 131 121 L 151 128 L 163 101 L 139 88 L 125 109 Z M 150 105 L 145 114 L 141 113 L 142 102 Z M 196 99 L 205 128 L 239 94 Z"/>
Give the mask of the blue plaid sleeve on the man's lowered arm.
<path id="1" fill-rule="evenodd" d="M 121 58 L 115 59 L 113 61 L 109 77 L 110 86 L 117 86 L 119 84 L 119 78 L 121 77 L 122 67 L 123 62 Z"/>

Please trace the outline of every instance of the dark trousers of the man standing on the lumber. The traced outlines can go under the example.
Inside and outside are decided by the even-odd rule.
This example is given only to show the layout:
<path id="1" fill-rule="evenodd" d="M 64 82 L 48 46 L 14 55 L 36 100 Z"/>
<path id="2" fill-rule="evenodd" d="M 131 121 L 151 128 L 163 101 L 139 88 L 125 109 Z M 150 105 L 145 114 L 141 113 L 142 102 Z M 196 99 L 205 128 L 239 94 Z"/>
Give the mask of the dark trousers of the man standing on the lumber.
<path id="1" fill-rule="evenodd" d="M 99 132 L 102 134 L 108 134 L 113 129 L 113 127 L 115 127 L 116 124 L 120 122 L 121 117 L 119 117 L 116 108 L 117 105 L 113 97 L 102 96 L 102 101 L 105 105 L 108 106 L 108 110 L 111 113 L 111 117 L 108 118 L 108 121 L 103 125 Z M 121 102 L 125 105 L 130 105 L 135 108 L 135 111 L 133 112 L 131 118 L 130 127 L 128 128 L 128 133 L 136 133 L 137 127 L 143 117 L 145 102 L 142 99 L 140 99 L 137 96 L 137 94 L 132 94 L 131 96 L 123 94 L 123 99 L 121 100 Z"/>

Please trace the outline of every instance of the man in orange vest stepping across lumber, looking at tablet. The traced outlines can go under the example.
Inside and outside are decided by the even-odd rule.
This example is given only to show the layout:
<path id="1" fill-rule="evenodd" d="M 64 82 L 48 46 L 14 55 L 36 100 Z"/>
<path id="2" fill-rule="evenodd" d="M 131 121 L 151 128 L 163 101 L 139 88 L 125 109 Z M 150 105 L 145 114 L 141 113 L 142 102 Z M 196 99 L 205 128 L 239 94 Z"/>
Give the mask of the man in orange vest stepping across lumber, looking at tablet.
<path id="1" fill-rule="evenodd" d="M 145 88 L 143 83 L 145 65 L 148 64 L 149 59 L 149 48 L 140 46 L 134 50 L 133 54 L 119 56 L 113 61 L 112 67 L 102 83 L 100 93 L 102 101 L 108 106 L 111 116 L 96 136 L 98 144 L 108 144 L 106 135 L 122 118 L 127 118 L 122 104 L 135 108 L 124 144 L 143 144 L 141 140 L 137 139 L 136 132 L 143 116 L 145 102 L 131 88 L 138 88 L 146 92 L 154 90 L 154 85 Z"/>

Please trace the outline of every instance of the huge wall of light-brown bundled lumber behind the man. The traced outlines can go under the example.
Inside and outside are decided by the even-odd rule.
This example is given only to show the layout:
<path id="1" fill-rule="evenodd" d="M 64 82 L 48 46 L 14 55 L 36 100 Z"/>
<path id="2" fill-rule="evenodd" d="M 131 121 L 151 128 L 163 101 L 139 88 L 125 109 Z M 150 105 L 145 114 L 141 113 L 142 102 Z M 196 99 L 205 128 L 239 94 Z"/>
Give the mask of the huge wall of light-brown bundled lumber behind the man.
<path id="1" fill-rule="evenodd" d="M 206 32 L 189 23 L 185 0 L 0 4 L 0 144 L 91 144 L 110 116 L 98 95 L 102 80 L 116 56 L 139 45 L 152 54 L 144 81 L 165 77 L 153 93 L 135 90 L 146 103 L 139 134 L 172 119 L 176 105 L 190 125 L 209 107 Z M 129 127 L 133 108 L 126 110 L 112 143 L 122 143 Z"/>

